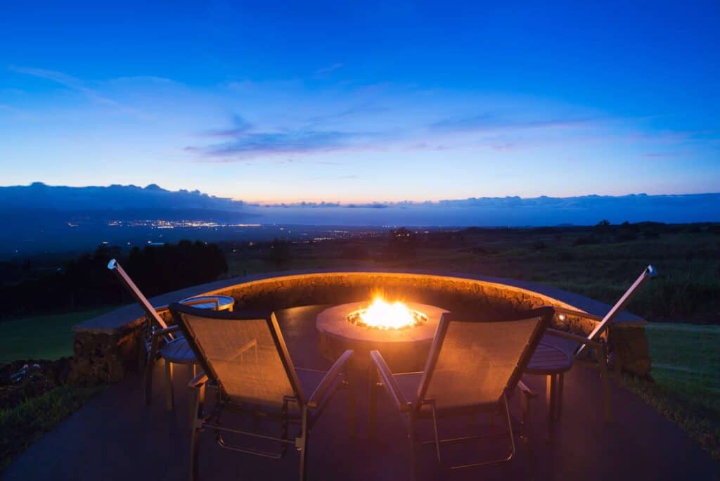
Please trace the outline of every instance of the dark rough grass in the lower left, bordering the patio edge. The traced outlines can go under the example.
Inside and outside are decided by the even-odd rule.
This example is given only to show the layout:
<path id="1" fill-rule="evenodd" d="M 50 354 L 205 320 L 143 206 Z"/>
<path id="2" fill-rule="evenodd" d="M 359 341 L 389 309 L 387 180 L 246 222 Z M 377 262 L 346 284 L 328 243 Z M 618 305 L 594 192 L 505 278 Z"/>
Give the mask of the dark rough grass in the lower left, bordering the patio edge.
<path id="1" fill-rule="evenodd" d="M 13 409 L 0 410 L 0 472 L 13 457 L 103 389 L 102 386 L 60 386 Z"/>

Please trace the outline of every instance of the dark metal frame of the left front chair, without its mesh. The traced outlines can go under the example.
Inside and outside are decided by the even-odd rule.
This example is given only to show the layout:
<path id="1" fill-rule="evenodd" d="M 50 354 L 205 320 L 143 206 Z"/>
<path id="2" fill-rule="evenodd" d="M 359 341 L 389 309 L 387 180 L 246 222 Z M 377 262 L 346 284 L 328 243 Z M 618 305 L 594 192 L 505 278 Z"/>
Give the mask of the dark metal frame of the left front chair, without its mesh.
<path id="1" fill-rule="evenodd" d="M 300 467 L 299 477 L 303 481 L 306 479 L 307 473 L 307 448 L 310 430 L 318 421 L 318 418 L 323 413 L 328 405 L 328 402 L 338 390 L 345 389 L 350 392 L 348 411 L 349 411 L 349 433 L 351 436 L 355 436 L 355 403 L 354 403 L 354 391 L 349 382 L 348 370 L 349 362 L 354 354 L 354 351 L 345 351 L 333 364 L 330 369 L 325 372 L 325 376 L 320 384 L 315 388 L 310 397 L 306 397 L 302 392 L 300 386 L 300 379 L 297 377 L 296 371 L 317 371 L 315 369 L 302 369 L 296 368 L 292 364 L 287 345 L 280 331 L 275 314 L 271 311 L 241 311 L 235 313 L 226 312 L 215 312 L 203 309 L 197 309 L 195 307 L 189 307 L 179 303 L 173 303 L 170 306 L 170 312 L 173 315 L 175 322 L 179 325 L 181 331 L 184 333 L 189 346 L 194 351 L 197 357 L 198 364 L 202 367 L 201 373 L 197 375 L 191 382 L 189 382 L 190 389 L 190 405 L 192 408 L 193 420 L 192 420 L 192 439 L 190 445 L 190 480 L 197 480 L 199 477 L 199 466 L 198 466 L 198 439 L 199 433 L 205 428 L 210 428 L 215 433 L 215 439 L 217 444 L 223 449 L 230 449 L 231 451 L 240 452 L 243 454 L 250 454 L 258 457 L 266 457 L 271 459 L 281 459 L 287 453 L 287 446 L 294 446 L 297 451 L 300 451 Z M 282 408 L 279 412 L 276 408 L 269 408 L 262 405 L 241 405 L 238 403 L 232 403 L 230 397 L 228 397 L 224 388 L 222 387 L 222 379 L 217 376 L 217 373 L 212 369 L 212 365 L 207 362 L 207 358 L 202 355 L 202 348 L 197 343 L 197 340 L 190 328 L 182 319 L 181 314 L 196 315 L 203 318 L 213 319 L 225 319 L 225 320 L 265 320 L 269 331 L 271 333 L 275 348 L 280 356 L 282 365 L 287 374 L 287 379 L 290 382 L 294 395 L 284 396 Z M 248 349 L 248 346 L 243 346 L 243 351 Z M 210 410 L 210 413 L 204 412 L 204 401 L 206 398 L 206 390 L 212 390 L 215 392 L 215 405 Z M 293 412 L 289 409 L 290 405 L 296 405 L 297 411 Z M 220 423 L 220 413 L 222 410 L 233 410 L 237 413 L 243 413 L 251 415 L 255 419 L 270 418 L 274 421 L 279 421 L 281 427 L 280 436 L 273 435 L 271 433 L 245 431 L 240 429 L 228 428 L 222 426 Z M 289 427 L 291 425 L 297 425 L 298 435 L 289 435 Z M 279 444 L 279 451 L 261 451 L 258 449 L 246 448 L 243 446 L 232 445 L 225 442 L 222 437 L 222 433 L 234 433 L 240 436 L 247 436 L 256 439 L 266 439 L 268 441 L 275 441 Z"/>

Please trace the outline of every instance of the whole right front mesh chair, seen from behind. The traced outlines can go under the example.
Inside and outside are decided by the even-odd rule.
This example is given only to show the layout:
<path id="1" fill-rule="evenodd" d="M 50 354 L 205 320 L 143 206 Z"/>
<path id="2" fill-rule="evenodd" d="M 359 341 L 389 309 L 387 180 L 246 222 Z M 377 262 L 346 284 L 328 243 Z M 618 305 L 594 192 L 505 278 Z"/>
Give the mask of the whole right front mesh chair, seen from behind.
<path id="1" fill-rule="evenodd" d="M 374 391 L 384 387 L 408 426 L 411 479 L 415 479 L 415 424 L 423 419 L 432 421 L 433 439 L 419 442 L 435 446 L 441 466 L 463 469 L 510 461 L 516 446 L 508 398 L 516 387 L 522 392 L 521 436 L 530 448 L 527 442 L 528 405 L 535 395 L 520 377 L 553 313 L 552 307 L 541 307 L 520 313 L 510 320 L 495 322 L 474 320 L 472 314 L 444 313 L 423 372 L 393 374 L 379 351 L 371 351 L 372 368 L 379 379 L 379 382 L 371 382 L 370 387 L 371 433 L 374 430 Z M 446 466 L 441 453 L 443 444 L 471 441 L 492 434 L 441 439 L 438 418 L 474 413 L 490 413 L 503 418 L 507 431 L 501 434 L 509 437 L 508 455 Z"/>

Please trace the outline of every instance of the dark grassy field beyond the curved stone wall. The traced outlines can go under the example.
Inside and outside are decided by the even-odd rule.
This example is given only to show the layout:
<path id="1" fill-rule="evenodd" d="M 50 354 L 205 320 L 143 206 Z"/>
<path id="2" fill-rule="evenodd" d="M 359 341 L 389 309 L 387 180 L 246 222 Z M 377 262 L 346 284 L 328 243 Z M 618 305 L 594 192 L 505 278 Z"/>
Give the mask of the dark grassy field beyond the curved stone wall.
<path id="1" fill-rule="evenodd" d="M 659 276 L 636 295 L 631 312 L 650 320 L 720 322 L 720 235 L 667 232 L 577 245 L 583 235 L 588 229 L 467 230 L 451 239 L 418 241 L 417 255 L 410 259 L 384 256 L 387 237 L 294 244 L 282 267 L 264 261 L 267 249 L 256 246 L 227 253 L 228 275 L 337 266 L 431 269 L 538 282 L 613 304 L 652 264 Z M 369 259 L 344 256 L 351 247 L 363 248 Z"/>

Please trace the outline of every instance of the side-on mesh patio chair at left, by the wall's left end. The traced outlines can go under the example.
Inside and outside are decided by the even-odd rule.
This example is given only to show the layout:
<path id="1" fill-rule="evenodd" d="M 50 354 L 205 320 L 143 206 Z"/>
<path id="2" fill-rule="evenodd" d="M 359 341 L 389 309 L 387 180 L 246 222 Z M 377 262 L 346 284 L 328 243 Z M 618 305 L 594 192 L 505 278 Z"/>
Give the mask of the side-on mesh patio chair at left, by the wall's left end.
<path id="1" fill-rule="evenodd" d="M 140 346 L 140 356 L 144 359 L 140 359 L 141 364 L 145 364 L 145 403 L 150 404 L 152 399 L 153 390 L 153 367 L 155 361 L 159 357 L 165 360 L 165 399 L 166 408 L 172 410 L 174 407 L 174 392 L 173 392 L 173 365 L 184 364 L 195 372 L 195 356 L 192 354 L 187 341 L 180 332 L 178 325 L 168 326 L 163 320 L 158 311 L 155 310 L 148 298 L 140 292 L 135 282 L 132 282 L 130 276 L 127 275 L 125 269 L 122 269 L 120 263 L 115 259 L 112 259 L 107 264 L 107 269 L 110 269 L 120 280 L 120 284 L 130 292 L 130 295 L 135 299 L 140 307 L 145 312 L 145 318 L 147 323 L 145 329 L 143 329 L 142 343 Z M 212 308 L 218 310 L 220 303 L 217 297 L 204 296 L 199 297 L 195 300 L 188 299 L 182 301 L 186 305 L 203 305 L 207 306 L 209 303 L 213 304 Z M 232 310 L 232 305 L 229 306 Z"/>

